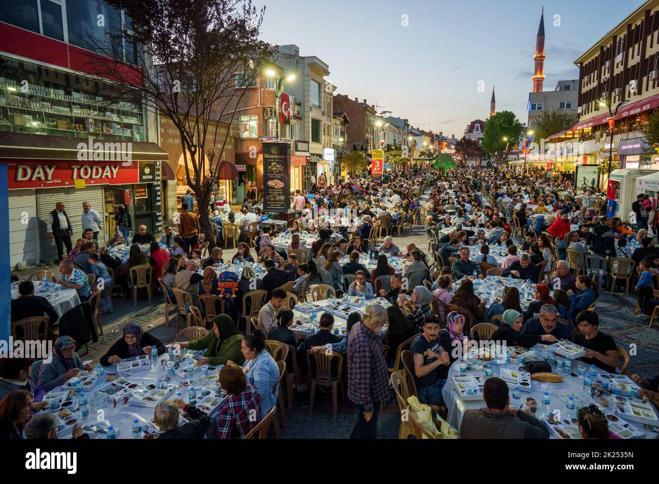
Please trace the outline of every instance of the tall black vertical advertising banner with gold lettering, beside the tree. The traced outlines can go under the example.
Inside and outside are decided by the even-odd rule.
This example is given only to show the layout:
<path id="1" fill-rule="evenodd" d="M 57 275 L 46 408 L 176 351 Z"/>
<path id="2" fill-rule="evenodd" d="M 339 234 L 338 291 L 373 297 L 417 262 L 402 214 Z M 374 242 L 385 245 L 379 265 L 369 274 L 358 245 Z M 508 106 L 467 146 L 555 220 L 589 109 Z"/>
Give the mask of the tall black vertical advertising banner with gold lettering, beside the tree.
<path id="1" fill-rule="evenodd" d="M 263 144 L 263 211 L 287 213 L 291 205 L 288 143 Z"/>

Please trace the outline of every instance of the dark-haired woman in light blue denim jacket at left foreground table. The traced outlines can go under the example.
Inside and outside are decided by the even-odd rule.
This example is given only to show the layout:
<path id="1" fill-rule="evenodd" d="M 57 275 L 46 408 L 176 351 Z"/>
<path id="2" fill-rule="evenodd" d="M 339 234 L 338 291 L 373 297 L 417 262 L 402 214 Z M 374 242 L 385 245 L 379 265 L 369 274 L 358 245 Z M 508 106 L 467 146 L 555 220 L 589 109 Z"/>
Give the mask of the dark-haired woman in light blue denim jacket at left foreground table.
<path id="1" fill-rule="evenodd" d="M 244 338 L 241 343 L 241 352 L 247 360 L 243 365 L 247 383 L 254 385 L 260 396 L 260 418 L 262 419 L 268 414 L 270 408 L 277 406 L 279 389 L 274 393 L 272 389 L 279 381 L 279 367 L 266 350 L 263 333 L 258 329 Z"/>

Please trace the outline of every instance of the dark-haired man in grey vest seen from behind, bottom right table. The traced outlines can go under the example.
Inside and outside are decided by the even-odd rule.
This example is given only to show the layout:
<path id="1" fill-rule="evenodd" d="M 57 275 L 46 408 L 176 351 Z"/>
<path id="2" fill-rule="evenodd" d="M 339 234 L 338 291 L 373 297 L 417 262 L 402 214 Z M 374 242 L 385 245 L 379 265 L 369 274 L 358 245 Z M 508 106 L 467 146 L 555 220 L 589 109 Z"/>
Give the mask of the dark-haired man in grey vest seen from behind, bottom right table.
<path id="1" fill-rule="evenodd" d="M 486 408 L 467 410 L 460 425 L 461 439 L 549 439 L 549 430 L 536 417 L 509 407 L 508 385 L 500 378 L 485 381 Z"/>

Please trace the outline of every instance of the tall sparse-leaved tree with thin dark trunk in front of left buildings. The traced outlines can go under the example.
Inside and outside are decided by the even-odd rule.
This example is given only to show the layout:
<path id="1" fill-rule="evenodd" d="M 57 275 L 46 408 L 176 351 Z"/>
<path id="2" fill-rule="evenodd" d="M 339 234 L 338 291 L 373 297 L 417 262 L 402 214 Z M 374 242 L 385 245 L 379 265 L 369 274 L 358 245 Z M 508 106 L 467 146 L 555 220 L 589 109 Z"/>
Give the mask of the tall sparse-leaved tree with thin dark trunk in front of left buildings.
<path id="1" fill-rule="evenodd" d="M 121 32 L 108 32 L 105 40 L 86 36 L 98 55 L 86 61 L 84 72 L 109 78 L 116 99 L 141 99 L 146 109 L 173 123 L 186 182 L 213 248 L 208 205 L 231 132 L 227 128 L 216 146 L 219 120 L 230 116 L 233 122 L 246 92 L 236 87 L 256 85 L 274 59 L 274 47 L 258 40 L 265 7 L 257 11 L 251 0 L 107 2 L 125 11 L 132 30 L 124 23 Z"/>

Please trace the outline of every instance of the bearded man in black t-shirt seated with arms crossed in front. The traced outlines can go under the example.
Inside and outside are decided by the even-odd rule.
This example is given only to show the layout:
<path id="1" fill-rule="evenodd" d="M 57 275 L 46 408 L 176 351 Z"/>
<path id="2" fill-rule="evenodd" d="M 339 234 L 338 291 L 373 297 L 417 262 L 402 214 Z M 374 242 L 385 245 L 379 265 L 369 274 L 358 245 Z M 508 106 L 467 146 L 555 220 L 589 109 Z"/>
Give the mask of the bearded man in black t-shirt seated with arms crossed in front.
<path id="1" fill-rule="evenodd" d="M 426 317 L 423 320 L 423 334 L 416 336 L 412 342 L 412 354 L 418 399 L 424 404 L 444 406 L 442 388 L 451 364 L 451 338 L 447 332 L 442 331 L 445 338 L 440 341 L 440 331 L 437 317 Z"/>

